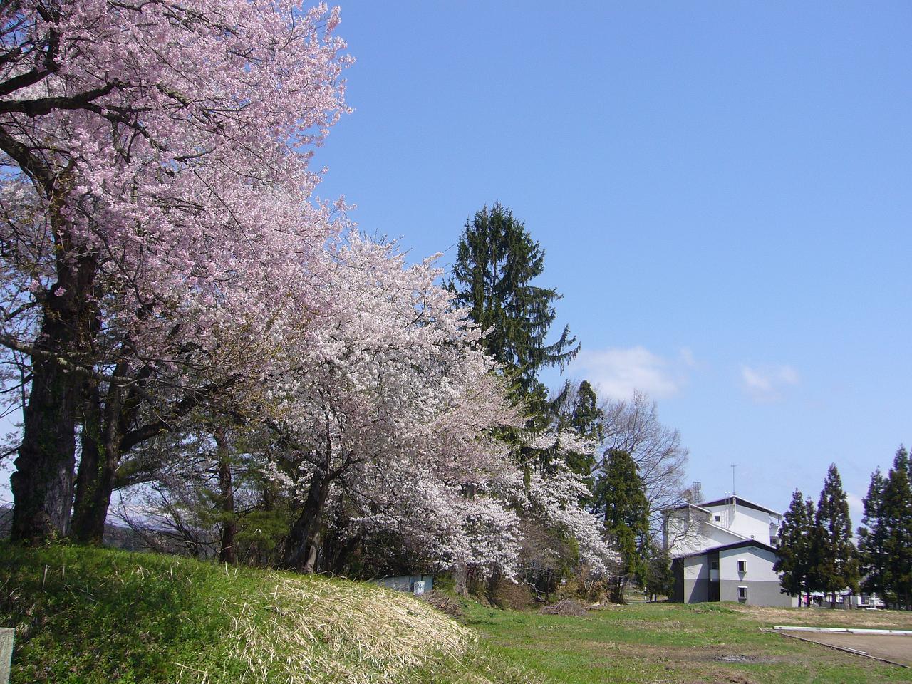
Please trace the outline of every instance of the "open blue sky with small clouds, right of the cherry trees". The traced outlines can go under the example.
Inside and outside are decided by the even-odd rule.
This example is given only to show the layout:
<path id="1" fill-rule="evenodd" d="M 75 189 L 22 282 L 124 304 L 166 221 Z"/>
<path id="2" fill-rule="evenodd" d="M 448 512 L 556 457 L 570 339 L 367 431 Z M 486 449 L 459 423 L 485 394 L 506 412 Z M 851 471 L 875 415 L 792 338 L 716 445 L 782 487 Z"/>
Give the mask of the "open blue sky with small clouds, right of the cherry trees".
<path id="1" fill-rule="evenodd" d="M 416 257 L 503 202 L 570 373 L 659 402 L 689 480 L 850 496 L 912 441 L 912 5 L 346 2 L 316 165 Z M 559 382 L 556 374 L 545 378 Z M 853 521 L 859 523 L 857 502 Z"/>

